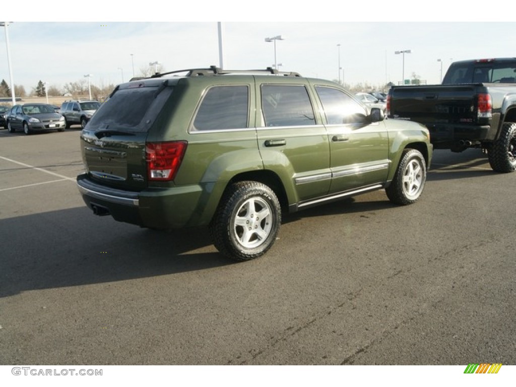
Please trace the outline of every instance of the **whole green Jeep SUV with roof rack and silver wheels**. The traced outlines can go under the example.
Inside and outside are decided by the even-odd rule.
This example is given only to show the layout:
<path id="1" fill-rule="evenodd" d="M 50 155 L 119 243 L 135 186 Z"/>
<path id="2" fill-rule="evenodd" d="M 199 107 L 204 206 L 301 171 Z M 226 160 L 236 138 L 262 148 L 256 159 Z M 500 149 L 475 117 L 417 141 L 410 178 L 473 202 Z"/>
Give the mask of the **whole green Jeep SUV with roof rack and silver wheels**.
<path id="1" fill-rule="evenodd" d="M 297 73 L 179 74 L 117 86 L 82 131 L 77 185 L 94 214 L 209 226 L 219 251 L 245 261 L 272 246 L 282 211 L 382 188 L 404 205 L 423 192 L 432 146 L 420 124 Z"/>

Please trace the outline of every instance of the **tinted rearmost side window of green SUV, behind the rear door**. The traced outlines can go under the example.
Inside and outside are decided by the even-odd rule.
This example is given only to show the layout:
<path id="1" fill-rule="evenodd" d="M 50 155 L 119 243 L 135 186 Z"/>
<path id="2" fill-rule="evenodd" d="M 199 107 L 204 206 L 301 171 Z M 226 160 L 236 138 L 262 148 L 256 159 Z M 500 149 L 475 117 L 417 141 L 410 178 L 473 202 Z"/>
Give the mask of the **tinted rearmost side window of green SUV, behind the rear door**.
<path id="1" fill-rule="evenodd" d="M 249 112 L 247 86 L 210 88 L 193 120 L 193 131 L 220 131 L 246 128 Z"/>

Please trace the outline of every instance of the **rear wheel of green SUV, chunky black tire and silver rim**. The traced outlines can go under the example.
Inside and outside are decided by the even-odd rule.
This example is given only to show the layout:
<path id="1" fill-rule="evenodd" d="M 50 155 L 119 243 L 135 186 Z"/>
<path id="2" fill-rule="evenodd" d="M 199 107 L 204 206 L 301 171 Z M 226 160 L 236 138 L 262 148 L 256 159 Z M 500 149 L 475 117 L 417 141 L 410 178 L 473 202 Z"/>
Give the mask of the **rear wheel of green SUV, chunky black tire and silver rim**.
<path id="1" fill-rule="evenodd" d="M 210 229 L 217 250 L 235 261 L 249 261 L 270 249 L 280 223 L 281 207 L 272 189 L 244 181 L 226 190 Z"/>

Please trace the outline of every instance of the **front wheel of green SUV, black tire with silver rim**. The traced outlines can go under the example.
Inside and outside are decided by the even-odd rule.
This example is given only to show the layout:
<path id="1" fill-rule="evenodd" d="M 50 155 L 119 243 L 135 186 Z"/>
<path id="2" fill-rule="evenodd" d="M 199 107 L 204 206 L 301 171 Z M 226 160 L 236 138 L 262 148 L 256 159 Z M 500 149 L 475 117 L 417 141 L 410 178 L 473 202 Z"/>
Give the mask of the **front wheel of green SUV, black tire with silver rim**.
<path id="1" fill-rule="evenodd" d="M 389 187 L 385 188 L 387 197 L 395 204 L 415 203 L 423 193 L 426 182 L 426 162 L 420 151 L 406 149 L 396 169 Z"/>

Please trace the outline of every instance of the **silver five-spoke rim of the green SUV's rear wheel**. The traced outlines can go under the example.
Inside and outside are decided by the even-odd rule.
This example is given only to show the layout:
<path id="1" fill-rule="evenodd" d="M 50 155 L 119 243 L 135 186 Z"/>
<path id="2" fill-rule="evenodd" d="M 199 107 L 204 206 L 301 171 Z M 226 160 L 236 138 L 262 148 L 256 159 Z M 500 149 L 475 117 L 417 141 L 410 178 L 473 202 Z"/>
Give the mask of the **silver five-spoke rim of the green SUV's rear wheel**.
<path id="1" fill-rule="evenodd" d="M 233 235 L 246 249 L 260 246 L 272 230 L 272 212 L 269 203 L 261 198 L 246 200 L 236 212 Z"/>

